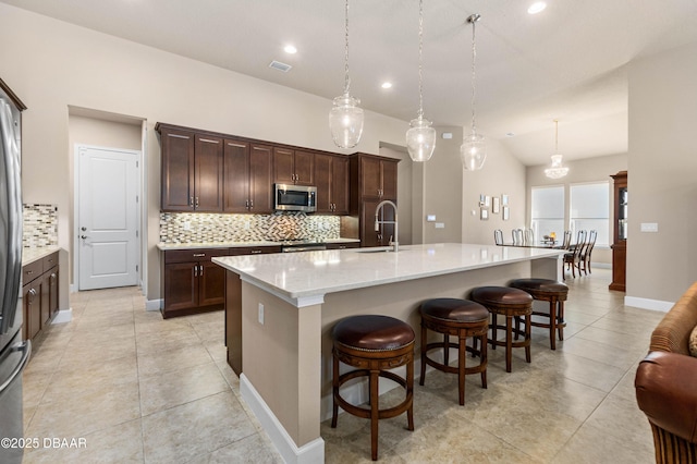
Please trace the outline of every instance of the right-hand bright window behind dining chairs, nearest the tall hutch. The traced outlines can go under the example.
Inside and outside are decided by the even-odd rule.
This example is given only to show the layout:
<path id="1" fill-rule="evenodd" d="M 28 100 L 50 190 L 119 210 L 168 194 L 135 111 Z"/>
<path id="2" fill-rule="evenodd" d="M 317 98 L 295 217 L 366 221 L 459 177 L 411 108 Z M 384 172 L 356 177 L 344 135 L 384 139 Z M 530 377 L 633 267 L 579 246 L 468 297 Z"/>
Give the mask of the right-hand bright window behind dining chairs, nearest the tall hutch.
<path id="1" fill-rule="evenodd" d="M 594 184 L 572 185 L 570 190 L 571 200 L 571 229 L 597 230 L 597 246 L 610 246 L 610 183 L 599 182 Z"/>

